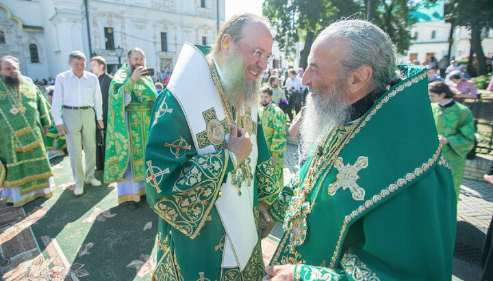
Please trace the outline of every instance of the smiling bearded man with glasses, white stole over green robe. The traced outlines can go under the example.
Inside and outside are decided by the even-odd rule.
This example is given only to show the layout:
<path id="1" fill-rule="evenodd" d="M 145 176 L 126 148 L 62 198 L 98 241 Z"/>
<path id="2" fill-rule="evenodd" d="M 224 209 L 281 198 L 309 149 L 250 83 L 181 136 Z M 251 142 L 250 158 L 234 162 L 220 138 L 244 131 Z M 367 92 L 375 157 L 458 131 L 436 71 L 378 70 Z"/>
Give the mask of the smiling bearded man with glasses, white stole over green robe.
<path id="1" fill-rule="evenodd" d="M 236 14 L 211 50 L 184 44 L 155 101 L 145 159 L 160 217 L 155 280 L 264 276 L 262 227 L 280 187 L 256 97 L 272 44 L 266 18 Z"/>

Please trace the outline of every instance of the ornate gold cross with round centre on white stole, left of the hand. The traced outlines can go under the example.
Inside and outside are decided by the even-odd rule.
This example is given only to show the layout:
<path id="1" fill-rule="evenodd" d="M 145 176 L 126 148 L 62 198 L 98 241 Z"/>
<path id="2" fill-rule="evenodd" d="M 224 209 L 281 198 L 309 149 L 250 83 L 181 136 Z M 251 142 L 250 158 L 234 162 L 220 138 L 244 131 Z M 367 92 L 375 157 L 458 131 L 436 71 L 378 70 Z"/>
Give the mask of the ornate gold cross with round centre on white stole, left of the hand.
<path id="1" fill-rule="evenodd" d="M 206 128 L 205 131 L 197 134 L 199 148 L 205 148 L 212 144 L 216 151 L 225 149 L 227 146 L 225 136 L 229 133 L 227 119 L 218 120 L 214 107 L 204 111 L 202 116 L 205 120 Z"/>

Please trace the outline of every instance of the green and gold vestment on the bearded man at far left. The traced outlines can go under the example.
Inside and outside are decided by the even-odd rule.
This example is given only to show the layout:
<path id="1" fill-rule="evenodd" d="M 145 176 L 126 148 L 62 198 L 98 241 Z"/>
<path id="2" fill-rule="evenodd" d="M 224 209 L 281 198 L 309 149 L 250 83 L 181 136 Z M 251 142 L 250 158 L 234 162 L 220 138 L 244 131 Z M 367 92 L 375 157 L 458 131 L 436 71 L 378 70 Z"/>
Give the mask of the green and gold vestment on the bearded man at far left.
<path id="1" fill-rule="evenodd" d="M 43 128 L 51 121 L 45 97 L 25 79 L 18 90 L 0 79 L 0 101 L 0 188 L 18 187 L 25 195 L 49 187 L 53 173 Z"/>

